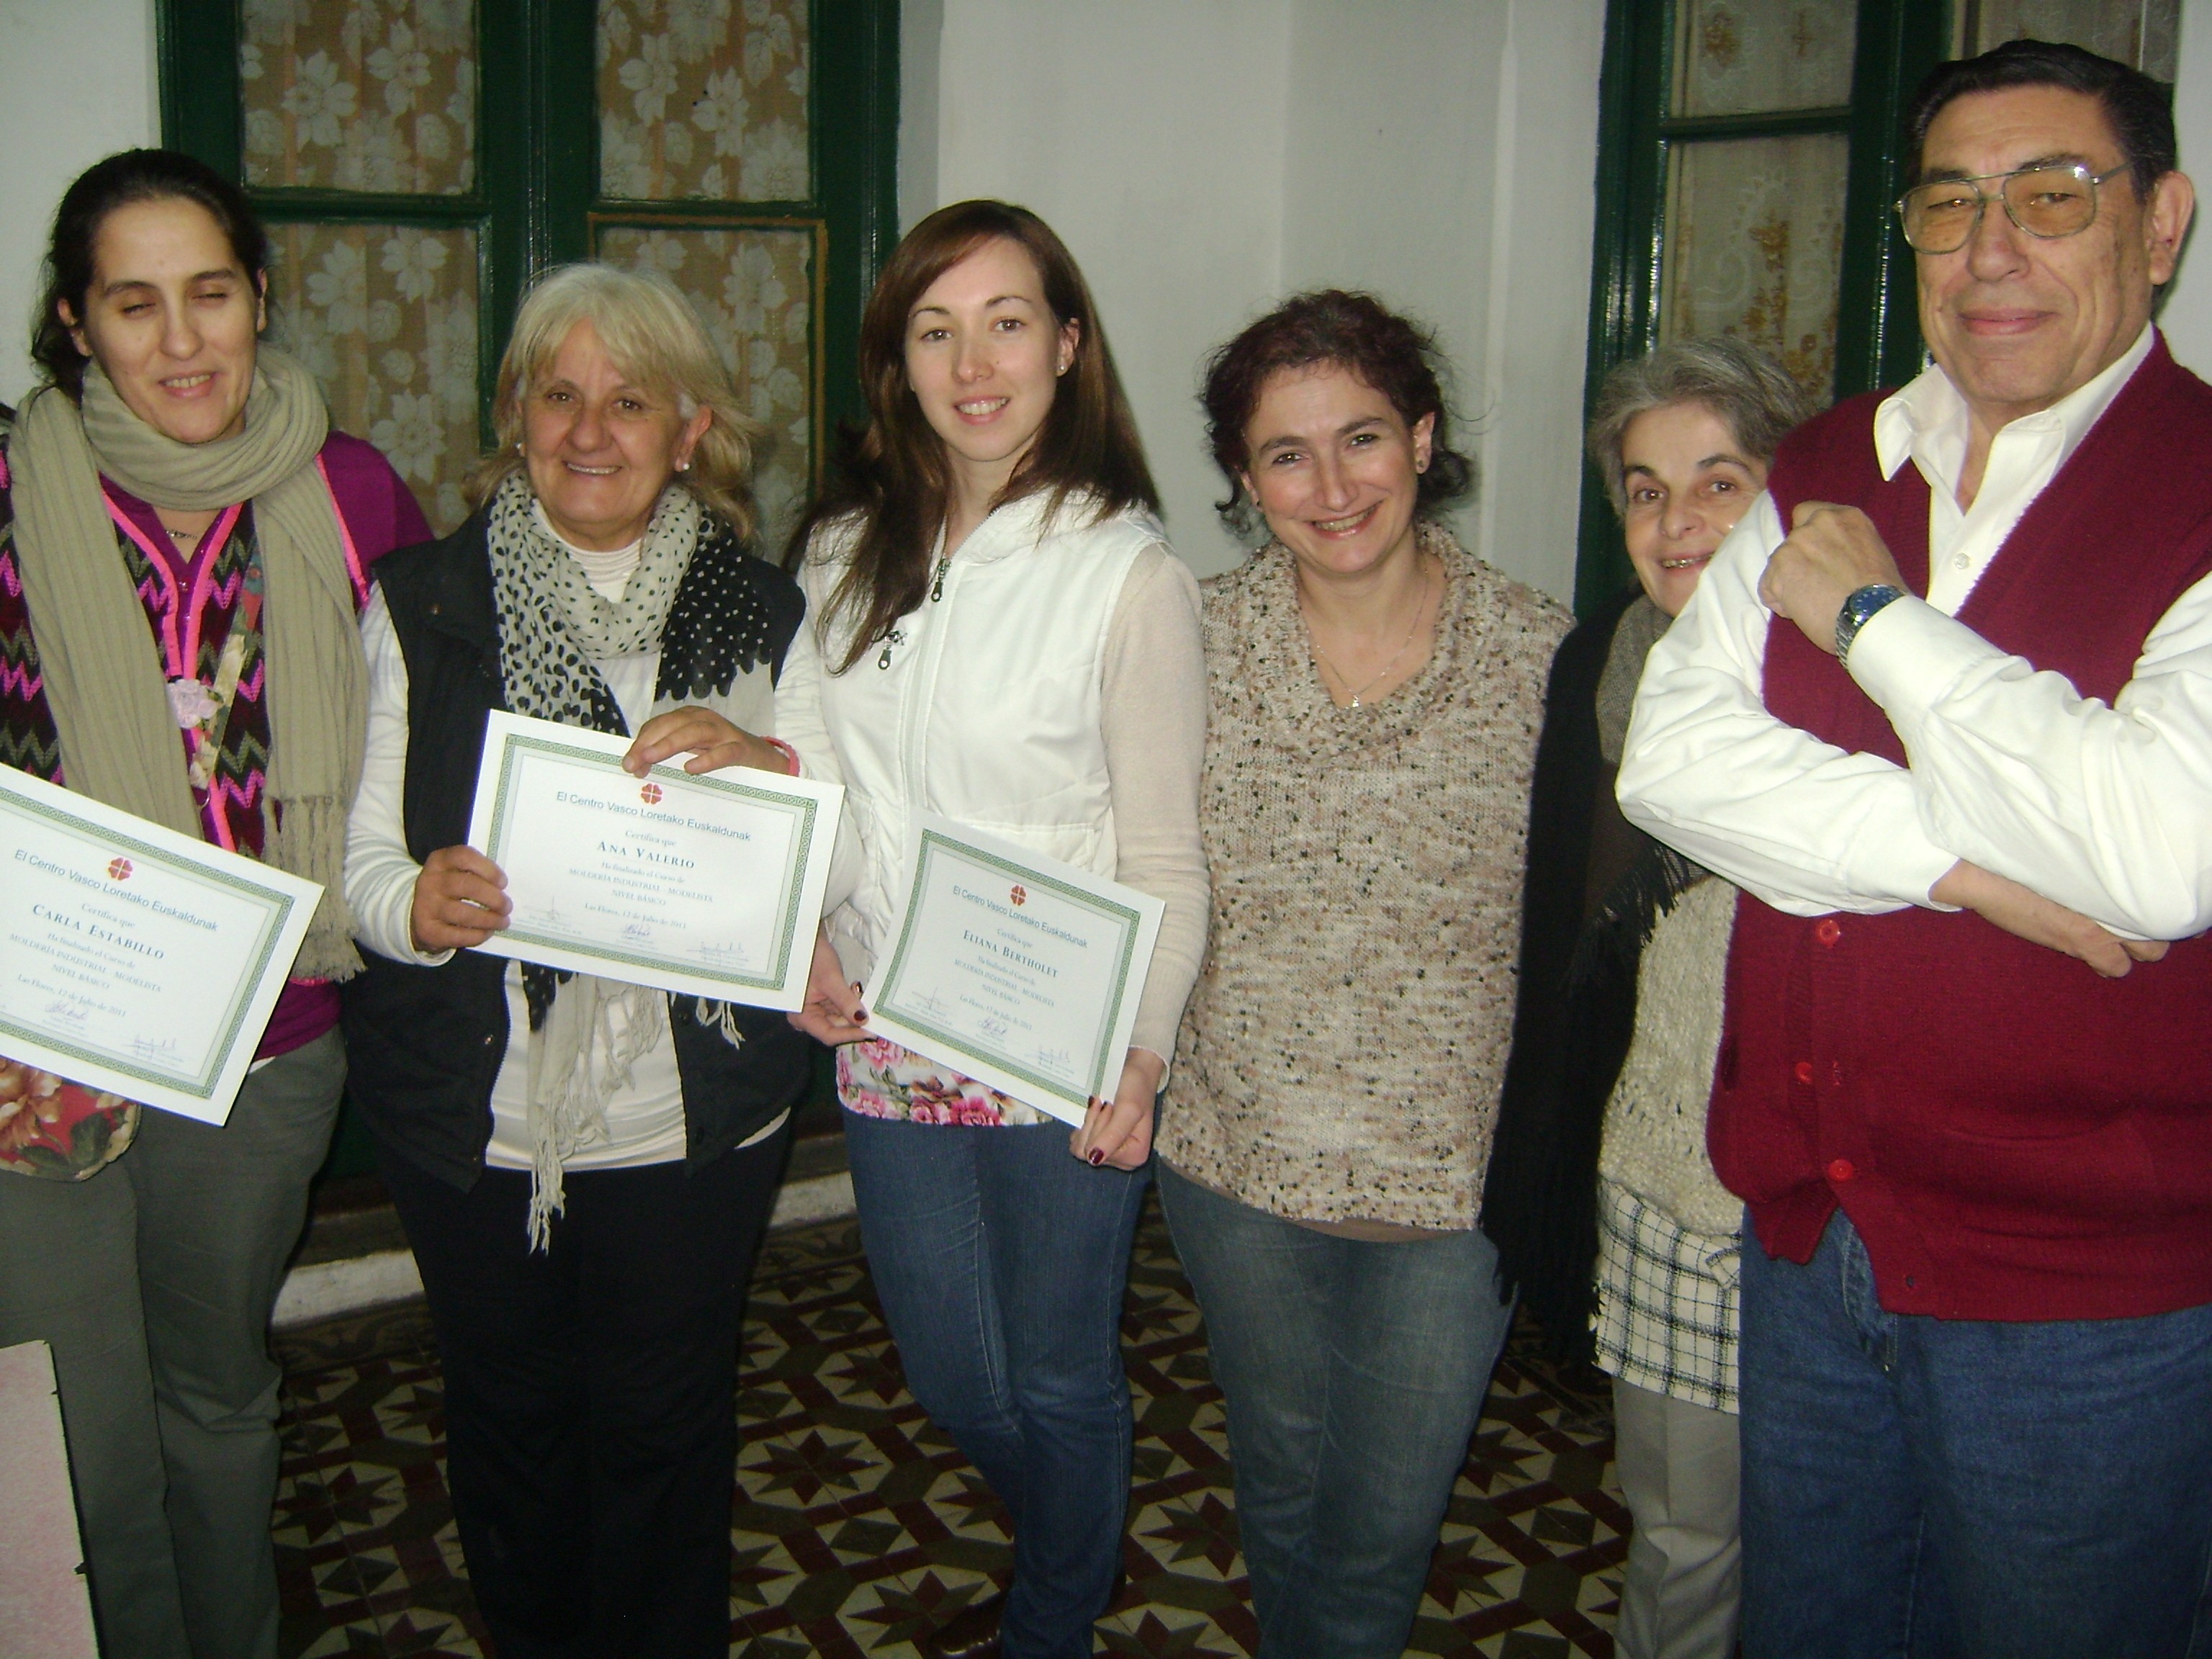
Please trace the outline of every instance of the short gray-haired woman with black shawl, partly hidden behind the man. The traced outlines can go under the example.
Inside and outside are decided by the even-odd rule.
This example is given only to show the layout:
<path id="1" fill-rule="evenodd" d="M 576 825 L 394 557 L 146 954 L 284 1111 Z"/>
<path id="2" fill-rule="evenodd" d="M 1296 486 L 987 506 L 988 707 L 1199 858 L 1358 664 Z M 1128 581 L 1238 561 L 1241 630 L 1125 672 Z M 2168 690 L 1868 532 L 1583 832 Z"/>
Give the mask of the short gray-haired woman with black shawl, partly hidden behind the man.
<path id="1" fill-rule="evenodd" d="M 1736 891 L 1621 818 L 1613 774 L 1652 641 L 1814 411 L 1739 341 L 1686 341 L 1599 389 L 1590 465 L 1639 586 L 1553 661 L 1528 812 L 1522 991 L 1482 1225 L 1509 1287 L 1613 1383 L 1635 1517 L 1626 1659 L 1736 1641 L 1736 1234 L 1705 1159 Z"/>

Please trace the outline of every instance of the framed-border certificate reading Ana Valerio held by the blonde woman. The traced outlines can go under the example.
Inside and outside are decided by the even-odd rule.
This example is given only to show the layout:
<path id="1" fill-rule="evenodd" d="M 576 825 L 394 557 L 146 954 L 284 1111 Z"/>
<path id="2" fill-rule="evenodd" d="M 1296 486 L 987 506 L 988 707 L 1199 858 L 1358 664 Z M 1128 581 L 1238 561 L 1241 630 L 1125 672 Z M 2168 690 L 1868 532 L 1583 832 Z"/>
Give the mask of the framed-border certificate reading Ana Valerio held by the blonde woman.
<path id="1" fill-rule="evenodd" d="M 493 714 L 469 845 L 513 914 L 476 949 L 661 991 L 796 1009 L 838 783 L 752 768 L 622 770 L 630 739 Z"/>

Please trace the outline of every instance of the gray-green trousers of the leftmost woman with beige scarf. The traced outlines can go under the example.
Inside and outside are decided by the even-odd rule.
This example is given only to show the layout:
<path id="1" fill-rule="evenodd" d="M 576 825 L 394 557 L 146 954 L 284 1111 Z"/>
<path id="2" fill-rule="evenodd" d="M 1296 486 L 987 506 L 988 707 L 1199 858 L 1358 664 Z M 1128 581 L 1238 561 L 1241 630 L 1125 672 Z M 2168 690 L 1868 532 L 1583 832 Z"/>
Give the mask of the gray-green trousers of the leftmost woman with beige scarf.
<path id="1" fill-rule="evenodd" d="M 223 1128 L 148 1110 L 88 1181 L 0 1172 L 0 1345 L 53 1345 L 104 1659 L 274 1659 L 270 1310 L 345 1086 L 336 1031 Z"/>

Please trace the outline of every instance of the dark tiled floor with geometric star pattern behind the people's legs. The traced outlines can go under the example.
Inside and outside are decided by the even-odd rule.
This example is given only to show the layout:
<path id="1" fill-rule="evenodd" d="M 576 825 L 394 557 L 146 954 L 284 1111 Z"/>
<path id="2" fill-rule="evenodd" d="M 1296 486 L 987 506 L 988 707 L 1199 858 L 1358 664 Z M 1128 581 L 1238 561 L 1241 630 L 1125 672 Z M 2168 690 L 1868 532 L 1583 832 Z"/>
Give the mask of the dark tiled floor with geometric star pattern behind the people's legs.
<path id="1" fill-rule="evenodd" d="M 1157 1210 L 1137 1239 L 1124 1352 L 1137 1489 L 1128 1588 L 1099 1624 L 1099 1652 L 1250 1655 L 1221 1396 Z M 283 1358 L 285 1655 L 482 1655 L 420 1310 L 294 1336 Z M 1004 1571 L 998 1504 L 907 1398 L 852 1223 L 770 1239 L 741 1380 L 732 1652 L 907 1655 L 920 1630 Z M 1628 1517 L 1610 1484 L 1604 1407 L 1601 1391 L 1562 1380 L 1515 1336 L 1409 1652 L 1613 1652 Z"/>

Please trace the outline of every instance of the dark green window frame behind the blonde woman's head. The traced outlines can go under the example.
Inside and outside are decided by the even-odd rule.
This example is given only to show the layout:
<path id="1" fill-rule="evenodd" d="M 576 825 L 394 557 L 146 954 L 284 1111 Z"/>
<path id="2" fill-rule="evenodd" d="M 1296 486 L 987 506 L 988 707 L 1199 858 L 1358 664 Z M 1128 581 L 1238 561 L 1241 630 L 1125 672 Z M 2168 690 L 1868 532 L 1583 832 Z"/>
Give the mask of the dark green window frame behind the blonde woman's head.
<path id="1" fill-rule="evenodd" d="M 239 0 L 157 0 L 164 144 L 246 179 Z M 812 230 L 814 453 L 865 420 L 856 372 L 860 310 L 898 241 L 898 0 L 810 0 L 814 195 L 805 201 L 626 201 L 599 192 L 597 7 L 586 0 L 476 0 L 476 188 L 376 195 L 248 188 L 270 226 L 376 223 L 476 232 L 478 425 L 529 281 L 591 259 L 602 230 Z M 500 111 L 500 119 L 487 119 Z M 522 119 L 511 113 L 520 111 Z M 365 436 L 365 434 L 363 434 Z"/>

